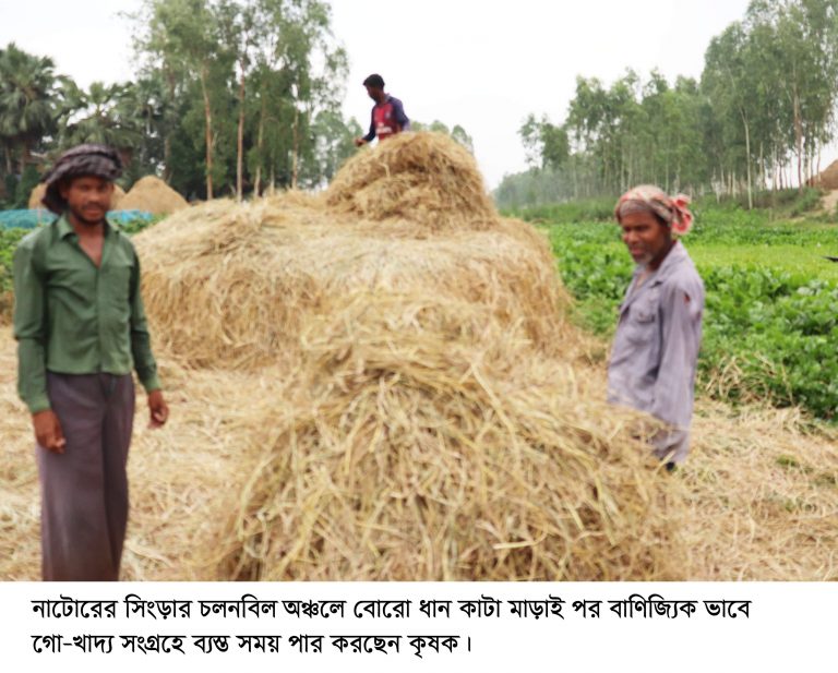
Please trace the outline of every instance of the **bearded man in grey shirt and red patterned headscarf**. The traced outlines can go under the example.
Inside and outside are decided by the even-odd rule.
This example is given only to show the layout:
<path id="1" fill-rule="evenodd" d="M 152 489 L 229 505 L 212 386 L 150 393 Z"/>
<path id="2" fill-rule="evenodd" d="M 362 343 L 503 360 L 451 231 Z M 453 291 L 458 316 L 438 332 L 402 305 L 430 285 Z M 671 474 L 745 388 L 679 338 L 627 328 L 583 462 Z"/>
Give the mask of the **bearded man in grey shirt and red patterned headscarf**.
<path id="1" fill-rule="evenodd" d="M 608 366 L 609 401 L 651 413 L 666 424 L 654 453 L 667 469 L 689 452 L 695 366 L 702 340 L 704 284 L 673 235 L 690 230 L 689 199 L 642 185 L 620 197 L 614 215 L 636 263 L 620 307 Z"/>

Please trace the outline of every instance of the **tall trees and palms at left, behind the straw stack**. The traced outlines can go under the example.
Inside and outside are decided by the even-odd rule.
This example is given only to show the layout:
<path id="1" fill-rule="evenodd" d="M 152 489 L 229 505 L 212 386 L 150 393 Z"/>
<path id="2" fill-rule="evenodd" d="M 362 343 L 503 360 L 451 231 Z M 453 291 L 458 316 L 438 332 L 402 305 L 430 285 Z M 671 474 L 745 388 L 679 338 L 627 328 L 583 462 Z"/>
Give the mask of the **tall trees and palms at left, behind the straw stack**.
<path id="1" fill-rule="evenodd" d="M 7 204 L 24 206 L 37 183 L 33 154 L 83 142 L 118 148 L 127 183 L 158 175 L 190 199 L 320 187 L 356 152 L 363 130 L 340 111 L 349 65 L 327 2 L 143 0 L 127 20 L 127 83 L 83 89 L 48 57 L 0 49 Z M 428 128 L 470 146 L 460 127 Z"/>

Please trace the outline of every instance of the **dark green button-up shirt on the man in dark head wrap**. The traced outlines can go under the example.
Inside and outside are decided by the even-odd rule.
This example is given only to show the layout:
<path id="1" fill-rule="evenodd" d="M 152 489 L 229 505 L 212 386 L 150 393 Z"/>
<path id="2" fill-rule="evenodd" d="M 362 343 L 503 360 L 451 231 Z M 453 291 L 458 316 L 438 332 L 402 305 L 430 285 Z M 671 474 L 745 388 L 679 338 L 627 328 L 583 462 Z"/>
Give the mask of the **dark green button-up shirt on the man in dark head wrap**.
<path id="1" fill-rule="evenodd" d="M 50 408 L 47 370 L 136 369 L 147 392 L 160 387 L 140 296 L 140 261 L 128 237 L 106 224 L 97 267 L 63 216 L 21 241 L 13 269 L 17 390 L 29 411 Z"/>

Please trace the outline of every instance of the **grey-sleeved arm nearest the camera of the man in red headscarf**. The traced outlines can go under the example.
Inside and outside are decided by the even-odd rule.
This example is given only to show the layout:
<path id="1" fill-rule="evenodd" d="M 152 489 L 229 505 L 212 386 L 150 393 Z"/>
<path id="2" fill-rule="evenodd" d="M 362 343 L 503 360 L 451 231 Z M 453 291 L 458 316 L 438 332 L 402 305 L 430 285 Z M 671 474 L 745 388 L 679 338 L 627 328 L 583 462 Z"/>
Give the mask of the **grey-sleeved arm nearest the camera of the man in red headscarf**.
<path id="1" fill-rule="evenodd" d="M 661 356 L 651 413 L 680 429 L 692 417 L 693 369 L 702 337 L 704 293 L 692 283 L 661 288 Z"/>

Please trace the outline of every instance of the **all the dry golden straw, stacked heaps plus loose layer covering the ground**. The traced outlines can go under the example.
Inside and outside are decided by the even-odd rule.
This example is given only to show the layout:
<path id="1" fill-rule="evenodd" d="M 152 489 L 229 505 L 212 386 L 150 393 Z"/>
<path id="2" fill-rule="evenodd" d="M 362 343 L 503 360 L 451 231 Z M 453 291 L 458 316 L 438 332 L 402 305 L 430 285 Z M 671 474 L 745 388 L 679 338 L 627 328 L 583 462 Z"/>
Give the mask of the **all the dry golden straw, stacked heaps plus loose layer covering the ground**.
<path id="1" fill-rule="evenodd" d="M 172 419 L 132 447 L 127 578 L 838 578 L 835 437 L 704 407 L 686 468 L 657 470 L 546 241 L 447 139 L 136 244 Z M 0 386 L 0 574 L 34 578 L 28 420 Z"/>

